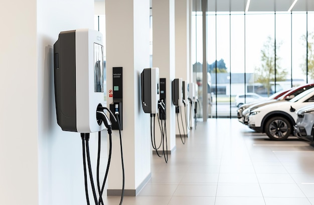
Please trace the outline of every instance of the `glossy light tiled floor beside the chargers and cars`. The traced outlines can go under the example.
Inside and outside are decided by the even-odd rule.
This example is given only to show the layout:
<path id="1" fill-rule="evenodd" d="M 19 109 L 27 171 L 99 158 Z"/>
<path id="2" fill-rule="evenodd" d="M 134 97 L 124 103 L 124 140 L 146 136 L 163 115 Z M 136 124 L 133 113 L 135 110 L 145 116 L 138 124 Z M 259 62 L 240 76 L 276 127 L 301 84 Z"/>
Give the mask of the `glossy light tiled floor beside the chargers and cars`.
<path id="1" fill-rule="evenodd" d="M 198 122 L 167 164 L 156 155 L 151 163 L 149 182 L 123 204 L 314 205 L 314 148 L 295 137 L 271 141 L 235 118 Z"/>

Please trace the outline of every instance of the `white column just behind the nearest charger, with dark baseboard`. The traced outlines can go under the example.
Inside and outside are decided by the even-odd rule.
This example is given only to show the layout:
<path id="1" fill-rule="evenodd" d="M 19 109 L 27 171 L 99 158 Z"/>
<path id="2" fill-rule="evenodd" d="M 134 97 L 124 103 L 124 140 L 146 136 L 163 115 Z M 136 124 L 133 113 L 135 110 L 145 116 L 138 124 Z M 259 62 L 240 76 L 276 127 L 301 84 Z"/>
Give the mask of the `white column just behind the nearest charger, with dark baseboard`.
<path id="1" fill-rule="evenodd" d="M 123 67 L 123 153 L 125 195 L 136 195 L 150 178 L 149 114 L 140 98 L 140 73 L 149 67 L 149 0 L 106 0 L 107 93 L 112 87 L 112 67 Z M 107 98 L 107 106 L 112 102 Z M 122 186 L 118 132 L 113 132 L 113 153 L 108 175 L 108 195 Z"/>

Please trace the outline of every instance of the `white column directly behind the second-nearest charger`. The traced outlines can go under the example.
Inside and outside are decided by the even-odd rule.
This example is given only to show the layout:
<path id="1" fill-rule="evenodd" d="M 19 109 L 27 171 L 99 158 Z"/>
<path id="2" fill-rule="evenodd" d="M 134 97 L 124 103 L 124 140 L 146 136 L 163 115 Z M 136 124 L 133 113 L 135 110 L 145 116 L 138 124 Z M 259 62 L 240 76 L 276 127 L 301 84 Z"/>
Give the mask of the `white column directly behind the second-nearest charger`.
<path id="1" fill-rule="evenodd" d="M 175 0 L 152 0 L 152 66 L 159 67 L 160 77 L 166 78 L 166 126 L 170 153 L 176 149 L 176 110 L 171 89 L 176 77 L 175 57 Z M 159 127 L 158 122 L 155 126 Z"/>

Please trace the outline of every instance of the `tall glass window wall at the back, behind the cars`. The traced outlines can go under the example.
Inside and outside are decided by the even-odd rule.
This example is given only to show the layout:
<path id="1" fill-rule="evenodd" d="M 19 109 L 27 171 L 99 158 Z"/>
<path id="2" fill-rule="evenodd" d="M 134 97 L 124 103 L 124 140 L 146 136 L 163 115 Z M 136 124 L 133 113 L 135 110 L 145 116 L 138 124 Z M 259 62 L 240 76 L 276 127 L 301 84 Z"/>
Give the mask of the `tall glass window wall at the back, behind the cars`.
<path id="1" fill-rule="evenodd" d="M 314 12 L 207 12 L 208 117 L 236 117 L 239 104 L 256 100 L 251 93 L 265 98 L 312 82 L 312 19 Z M 202 12 L 193 11 L 193 80 L 199 97 L 204 85 L 202 23 Z"/>

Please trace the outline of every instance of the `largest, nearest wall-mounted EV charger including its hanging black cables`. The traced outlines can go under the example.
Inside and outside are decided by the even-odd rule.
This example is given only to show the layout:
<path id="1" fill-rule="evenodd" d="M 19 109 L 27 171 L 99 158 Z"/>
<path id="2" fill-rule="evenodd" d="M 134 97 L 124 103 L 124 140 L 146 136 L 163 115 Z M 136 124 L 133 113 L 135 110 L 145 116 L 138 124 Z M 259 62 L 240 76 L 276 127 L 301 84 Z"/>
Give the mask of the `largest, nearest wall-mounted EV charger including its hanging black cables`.
<path id="1" fill-rule="evenodd" d="M 87 168 L 95 204 L 104 204 L 102 193 L 108 175 L 112 149 L 112 123 L 105 114 L 104 103 L 104 61 L 103 36 L 92 29 L 62 31 L 54 44 L 54 81 L 57 122 L 62 130 L 81 132 L 84 182 L 87 204 L 90 204 L 87 184 Z M 114 117 L 114 116 L 113 116 Z M 115 120 L 114 120 L 115 121 Z M 107 169 L 100 186 L 99 164 L 101 130 L 106 126 L 109 134 L 109 156 Z M 97 189 L 94 184 L 90 162 L 89 138 L 91 132 L 98 131 Z M 124 165 L 122 140 L 120 135 L 122 164 L 122 194 L 124 195 Z M 87 159 L 87 163 L 86 163 Z"/>

